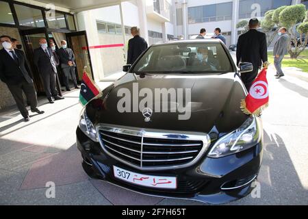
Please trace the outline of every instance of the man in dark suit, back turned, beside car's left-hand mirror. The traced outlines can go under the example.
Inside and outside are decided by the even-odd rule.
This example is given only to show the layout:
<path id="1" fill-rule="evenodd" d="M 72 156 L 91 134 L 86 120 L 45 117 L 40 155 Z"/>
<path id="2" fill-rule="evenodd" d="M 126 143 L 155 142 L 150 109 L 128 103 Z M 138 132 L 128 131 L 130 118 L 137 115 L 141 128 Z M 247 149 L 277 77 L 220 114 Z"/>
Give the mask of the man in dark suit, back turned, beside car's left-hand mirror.
<path id="1" fill-rule="evenodd" d="M 144 38 L 140 37 L 140 29 L 131 27 L 131 35 L 133 38 L 129 40 L 129 48 L 127 51 L 127 64 L 133 64 L 138 57 L 148 48 L 148 44 Z"/>

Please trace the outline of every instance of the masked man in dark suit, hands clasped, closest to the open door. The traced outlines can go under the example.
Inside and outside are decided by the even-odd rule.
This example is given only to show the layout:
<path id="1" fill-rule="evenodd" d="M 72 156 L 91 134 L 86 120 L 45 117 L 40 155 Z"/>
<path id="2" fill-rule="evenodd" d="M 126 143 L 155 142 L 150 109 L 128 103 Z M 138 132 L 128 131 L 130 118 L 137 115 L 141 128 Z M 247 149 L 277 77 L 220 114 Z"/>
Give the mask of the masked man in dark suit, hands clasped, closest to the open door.
<path id="1" fill-rule="evenodd" d="M 72 49 L 67 48 L 67 43 L 65 40 L 61 42 L 62 48 L 57 51 L 57 55 L 60 58 L 61 68 L 64 73 L 64 84 L 66 86 L 66 91 L 70 91 L 68 84 L 68 79 L 71 77 L 76 89 L 79 89 L 77 86 L 77 79 L 75 74 L 75 55 Z"/>

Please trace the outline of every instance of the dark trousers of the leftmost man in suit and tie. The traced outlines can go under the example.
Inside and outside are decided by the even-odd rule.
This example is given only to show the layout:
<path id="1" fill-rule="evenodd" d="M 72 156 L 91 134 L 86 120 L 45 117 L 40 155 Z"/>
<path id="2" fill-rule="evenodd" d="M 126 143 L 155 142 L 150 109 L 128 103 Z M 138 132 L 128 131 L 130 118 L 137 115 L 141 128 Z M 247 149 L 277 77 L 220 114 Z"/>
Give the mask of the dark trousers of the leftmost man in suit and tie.
<path id="1" fill-rule="evenodd" d="M 23 92 L 27 97 L 27 101 L 30 104 L 31 110 L 35 110 L 38 107 L 38 99 L 36 96 L 36 90 L 34 88 L 34 83 L 28 83 L 27 81 L 23 80 L 22 82 L 18 83 L 17 85 L 10 85 L 8 84 L 8 88 L 12 93 L 12 96 L 16 102 L 18 110 L 21 112 L 21 115 L 26 118 L 29 116 L 29 112 L 25 107 L 25 103 L 23 101 Z"/>

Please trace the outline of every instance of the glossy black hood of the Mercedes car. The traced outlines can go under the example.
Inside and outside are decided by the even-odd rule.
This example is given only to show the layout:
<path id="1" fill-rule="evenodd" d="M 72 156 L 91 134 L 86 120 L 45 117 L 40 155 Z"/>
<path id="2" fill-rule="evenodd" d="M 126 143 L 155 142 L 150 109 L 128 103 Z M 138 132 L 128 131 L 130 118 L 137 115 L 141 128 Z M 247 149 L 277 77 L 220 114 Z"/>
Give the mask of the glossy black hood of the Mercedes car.
<path id="1" fill-rule="evenodd" d="M 133 109 L 133 105 L 138 105 L 144 96 L 133 102 L 133 86 L 142 90 L 153 92 L 153 114 L 151 120 L 146 122 L 140 110 Z M 162 97 L 159 101 L 155 95 L 155 89 L 170 88 L 191 90 L 191 111 L 181 112 L 157 112 L 155 106 L 162 105 Z M 137 90 L 137 97 L 138 97 Z M 181 91 L 181 90 L 180 90 Z M 130 112 L 119 112 L 118 103 L 123 95 L 118 92 L 131 92 Z M 218 131 L 226 133 L 236 129 L 244 123 L 247 116 L 240 110 L 240 101 L 246 96 L 240 77 L 235 73 L 223 75 L 144 75 L 140 77 L 128 73 L 112 86 L 103 91 L 103 97 L 91 101 L 87 106 L 87 114 L 94 125 L 105 123 L 110 125 L 120 125 L 127 127 L 138 127 L 140 129 L 161 129 L 172 131 L 196 131 L 209 133 Z M 179 97 L 179 96 L 177 96 Z M 128 100 L 128 99 L 127 99 Z M 174 106 L 175 103 L 168 104 Z M 135 103 L 135 104 L 134 104 Z M 165 102 L 166 103 L 166 102 Z M 179 101 L 177 101 L 179 103 Z M 184 101 L 185 103 L 185 101 Z M 126 105 L 129 106 L 129 105 Z M 161 108 L 162 109 L 162 108 Z M 138 112 L 133 111 L 138 110 Z M 179 116 L 186 115 L 188 120 L 179 120 Z"/>

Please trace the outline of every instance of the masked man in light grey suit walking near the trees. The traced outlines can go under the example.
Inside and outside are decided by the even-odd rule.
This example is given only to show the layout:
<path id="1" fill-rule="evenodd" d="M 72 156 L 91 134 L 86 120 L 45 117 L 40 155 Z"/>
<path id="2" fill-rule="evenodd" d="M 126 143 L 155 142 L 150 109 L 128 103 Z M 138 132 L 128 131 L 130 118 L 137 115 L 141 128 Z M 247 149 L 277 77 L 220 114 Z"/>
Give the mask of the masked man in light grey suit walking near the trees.
<path id="1" fill-rule="evenodd" d="M 279 38 L 274 45 L 274 66 L 277 70 L 277 74 L 275 75 L 277 79 L 285 76 L 281 69 L 281 62 L 283 61 L 285 54 L 287 54 L 287 47 L 290 43 L 290 36 L 287 34 L 287 29 L 285 27 L 281 27 L 278 34 Z"/>

